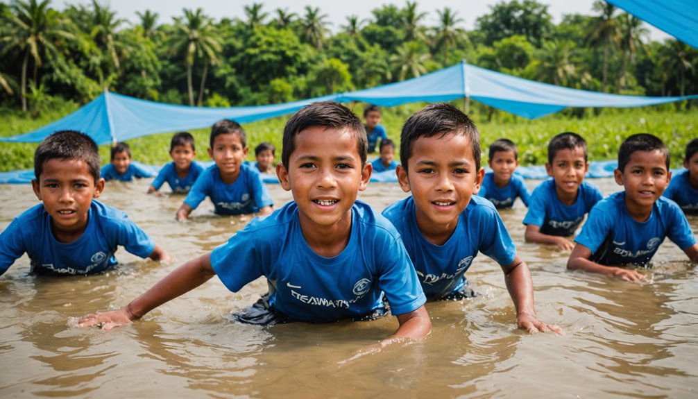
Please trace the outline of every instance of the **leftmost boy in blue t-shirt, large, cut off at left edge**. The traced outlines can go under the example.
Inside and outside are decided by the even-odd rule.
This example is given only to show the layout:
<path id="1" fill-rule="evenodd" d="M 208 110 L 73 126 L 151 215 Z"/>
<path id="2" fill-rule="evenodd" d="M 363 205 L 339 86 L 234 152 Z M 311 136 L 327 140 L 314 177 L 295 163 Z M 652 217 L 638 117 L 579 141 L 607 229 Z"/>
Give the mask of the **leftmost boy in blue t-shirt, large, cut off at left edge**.
<path id="1" fill-rule="evenodd" d="M 31 272 L 61 276 L 94 274 L 117 264 L 124 246 L 133 255 L 170 260 L 125 213 L 94 198 L 104 189 L 99 151 L 87 135 L 62 130 L 46 137 L 34 153 L 31 181 L 38 204 L 17 216 L 0 234 L 0 274 L 27 253 Z"/>

